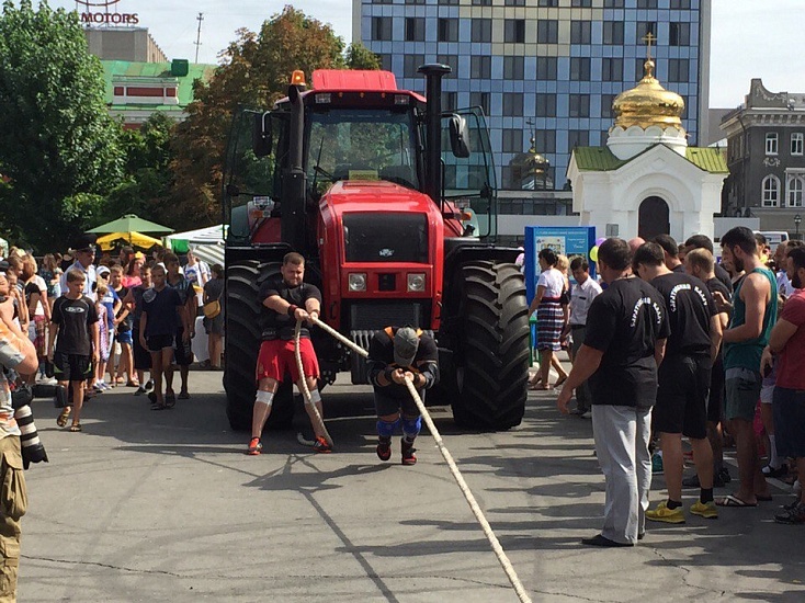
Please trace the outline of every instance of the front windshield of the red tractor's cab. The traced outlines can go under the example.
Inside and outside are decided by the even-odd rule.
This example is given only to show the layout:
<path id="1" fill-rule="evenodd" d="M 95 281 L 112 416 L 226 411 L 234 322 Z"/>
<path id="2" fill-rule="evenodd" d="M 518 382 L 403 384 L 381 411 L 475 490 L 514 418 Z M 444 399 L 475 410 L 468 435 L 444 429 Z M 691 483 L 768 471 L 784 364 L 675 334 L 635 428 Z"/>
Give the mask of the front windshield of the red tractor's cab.
<path id="1" fill-rule="evenodd" d="M 387 180 L 419 189 L 416 129 L 409 111 L 311 112 L 307 181 L 321 193 L 339 180 Z"/>

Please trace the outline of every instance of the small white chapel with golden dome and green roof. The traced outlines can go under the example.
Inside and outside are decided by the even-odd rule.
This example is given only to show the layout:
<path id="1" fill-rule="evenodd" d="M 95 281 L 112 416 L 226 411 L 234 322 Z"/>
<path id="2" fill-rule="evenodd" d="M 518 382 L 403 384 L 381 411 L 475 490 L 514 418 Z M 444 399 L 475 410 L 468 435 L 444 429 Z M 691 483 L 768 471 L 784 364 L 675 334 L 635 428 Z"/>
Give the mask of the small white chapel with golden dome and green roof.
<path id="1" fill-rule="evenodd" d="M 613 101 L 606 146 L 574 149 L 567 170 L 572 209 L 582 226 L 606 236 L 712 239 L 726 160 L 717 148 L 688 146 L 684 101 L 660 86 L 654 67 L 649 57 L 644 78 Z"/>

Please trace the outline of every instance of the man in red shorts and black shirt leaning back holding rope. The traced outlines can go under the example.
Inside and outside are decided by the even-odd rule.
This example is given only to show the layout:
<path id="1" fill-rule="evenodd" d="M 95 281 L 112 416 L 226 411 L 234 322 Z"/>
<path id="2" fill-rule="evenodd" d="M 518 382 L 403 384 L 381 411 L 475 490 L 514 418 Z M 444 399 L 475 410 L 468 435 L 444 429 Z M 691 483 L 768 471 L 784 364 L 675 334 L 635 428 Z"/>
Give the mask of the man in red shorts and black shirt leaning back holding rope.
<path id="1" fill-rule="evenodd" d="M 321 308 L 321 292 L 309 283 L 303 283 L 305 276 L 305 258 L 298 253 L 287 253 L 282 261 L 280 277 L 269 278 L 260 287 L 260 299 L 263 310 L 261 315 L 263 342 L 260 345 L 260 354 L 257 360 L 258 389 L 254 399 L 254 410 L 251 419 L 251 441 L 248 454 L 257 455 L 263 448 L 260 440 L 265 421 L 271 414 L 271 405 L 274 394 L 282 382 L 285 371 L 291 373 L 291 378 L 302 390 L 302 378 L 296 367 L 294 354 L 294 328 L 297 320 L 306 320 L 311 323 L 311 318 L 319 317 Z M 310 417 L 313 429 L 316 434 L 314 450 L 317 453 L 329 453 L 332 448 L 324 437 L 324 433 L 314 420 L 315 413 L 310 402 L 316 405 L 319 416 L 324 417 L 321 409 L 321 395 L 317 388 L 319 377 L 319 363 L 316 352 L 310 342 L 310 332 L 303 327 L 299 334 L 299 353 L 302 366 L 305 372 L 304 379 L 310 390 L 310 400 L 305 400 L 305 410 Z"/>

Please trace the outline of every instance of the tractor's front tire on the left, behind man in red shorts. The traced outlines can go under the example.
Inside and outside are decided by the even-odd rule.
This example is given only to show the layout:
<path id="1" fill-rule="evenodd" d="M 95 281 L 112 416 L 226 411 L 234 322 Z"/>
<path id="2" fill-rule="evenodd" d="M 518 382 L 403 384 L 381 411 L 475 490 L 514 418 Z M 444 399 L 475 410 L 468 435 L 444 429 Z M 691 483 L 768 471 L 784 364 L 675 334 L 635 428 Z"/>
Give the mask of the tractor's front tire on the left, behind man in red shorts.
<path id="1" fill-rule="evenodd" d="M 260 350 L 260 286 L 280 274 L 279 262 L 245 260 L 227 266 L 226 362 L 224 389 L 226 416 L 234 430 L 251 429 L 254 407 L 254 369 Z M 274 395 L 267 428 L 287 429 L 294 420 L 293 385 L 283 383 Z"/>

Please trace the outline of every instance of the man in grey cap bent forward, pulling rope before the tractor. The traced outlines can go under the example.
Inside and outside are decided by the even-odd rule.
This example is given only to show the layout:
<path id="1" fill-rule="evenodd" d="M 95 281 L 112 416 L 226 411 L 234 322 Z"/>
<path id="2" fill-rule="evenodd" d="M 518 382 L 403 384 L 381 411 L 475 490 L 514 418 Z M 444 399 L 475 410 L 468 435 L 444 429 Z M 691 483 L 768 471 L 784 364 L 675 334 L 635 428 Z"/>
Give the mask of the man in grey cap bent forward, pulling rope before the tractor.
<path id="1" fill-rule="evenodd" d="M 377 457 L 392 457 L 392 436 L 401 421 L 402 465 L 416 465 L 413 441 L 422 429 L 422 417 L 405 378 L 411 379 L 424 401 L 424 390 L 439 382 L 436 342 L 419 329 L 387 327 L 372 338 L 366 362 L 377 412 Z"/>

